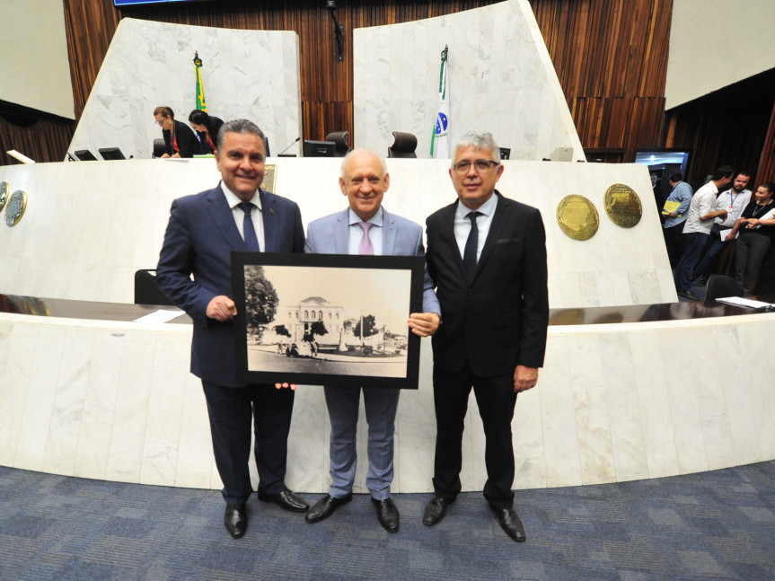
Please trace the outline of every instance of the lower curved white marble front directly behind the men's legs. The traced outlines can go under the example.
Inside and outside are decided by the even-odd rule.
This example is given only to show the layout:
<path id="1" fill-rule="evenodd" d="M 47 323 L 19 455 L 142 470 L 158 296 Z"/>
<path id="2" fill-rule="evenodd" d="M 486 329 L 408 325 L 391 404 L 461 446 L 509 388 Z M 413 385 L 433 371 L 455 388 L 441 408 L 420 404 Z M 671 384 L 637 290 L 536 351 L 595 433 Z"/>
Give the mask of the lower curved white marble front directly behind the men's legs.
<path id="1" fill-rule="evenodd" d="M 0 429 L 8 444 L 0 447 L 0 462 L 74 476 L 221 488 L 204 397 L 188 373 L 189 328 L 0 315 L 0 330 L 9 327 L 13 332 L 0 334 Z M 655 478 L 775 458 L 775 386 L 762 347 L 773 328 L 773 314 L 551 327 L 539 385 L 517 401 L 515 488 Z M 725 376 L 720 366 L 712 369 L 714 379 L 691 365 L 663 365 L 676 348 L 690 359 L 707 359 L 703 338 L 718 350 L 734 343 L 735 335 L 739 347 L 733 355 L 748 356 L 729 368 L 744 368 L 734 389 L 718 381 Z M 58 363 L 45 365 L 43 354 Z M 763 357 L 753 360 L 751 354 Z M 111 377 L 108 370 L 118 372 Z M 436 427 L 430 372 L 425 361 L 420 389 L 401 394 L 395 492 L 431 488 Z M 363 467 L 357 485 L 365 490 L 365 418 L 359 430 Z M 289 438 L 291 488 L 328 489 L 329 432 L 321 388 L 299 386 Z M 725 435 L 727 444 L 720 444 Z M 486 479 L 484 439 L 472 398 L 463 450 L 463 489 L 480 490 Z"/>

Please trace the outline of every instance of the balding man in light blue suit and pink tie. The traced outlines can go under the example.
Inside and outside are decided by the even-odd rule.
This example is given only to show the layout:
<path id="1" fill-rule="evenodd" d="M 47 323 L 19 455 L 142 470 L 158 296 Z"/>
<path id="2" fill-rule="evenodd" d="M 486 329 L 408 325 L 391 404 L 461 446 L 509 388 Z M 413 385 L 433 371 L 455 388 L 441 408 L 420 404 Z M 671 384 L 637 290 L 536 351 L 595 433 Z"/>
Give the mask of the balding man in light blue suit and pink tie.
<path id="1" fill-rule="evenodd" d="M 315 220 L 307 228 L 304 251 L 322 254 L 375 254 L 424 256 L 422 227 L 382 207 L 390 175 L 383 159 L 374 152 L 357 149 L 342 161 L 339 187 L 348 197 L 343 212 Z M 436 332 L 440 308 L 433 283 L 426 274 L 423 311 L 412 313 L 409 327 L 420 337 Z M 356 474 L 356 434 L 360 393 L 368 423 L 369 470 L 366 487 L 377 507 L 380 524 L 389 533 L 399 529 L 398 508 L 390 497 L 393 476 L 393 428 L 398 409 L 398 389 L 350 388 L 327 385 L 326 405 L 331 422 L 329 493 L 307 513 L 308 523 L 328 518 L 352 499 Z"/>

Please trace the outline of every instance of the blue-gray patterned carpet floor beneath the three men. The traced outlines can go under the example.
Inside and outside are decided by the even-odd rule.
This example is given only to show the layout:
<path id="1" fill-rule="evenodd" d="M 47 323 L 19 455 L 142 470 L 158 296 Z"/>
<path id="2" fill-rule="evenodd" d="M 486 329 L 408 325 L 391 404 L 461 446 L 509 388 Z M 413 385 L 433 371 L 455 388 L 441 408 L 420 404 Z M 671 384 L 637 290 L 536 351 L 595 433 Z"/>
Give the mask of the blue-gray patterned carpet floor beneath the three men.
<path id="1" fill-rule="evenodd" d="M 396 534 L 366 495 L 319 524 L 252 497 L 235 541 L 214 490 L 0 467 L 0 579 L 775 578 L 775 462 L 519 490 L 524 543 L 506 537 L 479 493 L 458 497 L 436 527 L 421 523 L 430 495 L 393 498 Z"/>

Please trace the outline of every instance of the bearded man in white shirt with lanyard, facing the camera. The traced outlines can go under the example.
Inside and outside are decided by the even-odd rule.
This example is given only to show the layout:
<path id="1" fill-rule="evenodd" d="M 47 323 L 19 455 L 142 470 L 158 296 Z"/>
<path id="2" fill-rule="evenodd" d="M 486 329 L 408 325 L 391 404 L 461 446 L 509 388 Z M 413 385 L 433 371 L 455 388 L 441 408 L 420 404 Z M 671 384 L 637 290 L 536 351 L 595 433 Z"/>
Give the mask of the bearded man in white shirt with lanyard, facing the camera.
<path id="1" fill-rule="evenodd" d="M 751 201 L 751 190 L 745 189 L 751 180 L 751 174 L 748 172 L 737 172 L 735 179 L 732 180 L 732 187 L 727 191 L 721 192 L 716 200 L 716 211 L 706 218 L 715 218 L 710 227 L 710 238 L 705 244 L 705 256 L 700 260 L 700 264 L 694 269 L 694 284 L 705 286 L 708 282 L 710 271 L 716 265 L 716 259 L 729 244 L 726 240 L 729 230 L 735 226 L 737 218 L 743 212 L 743 208 L 748 206 Z M 722 231 L 727 231 L 721 236 Z"/>

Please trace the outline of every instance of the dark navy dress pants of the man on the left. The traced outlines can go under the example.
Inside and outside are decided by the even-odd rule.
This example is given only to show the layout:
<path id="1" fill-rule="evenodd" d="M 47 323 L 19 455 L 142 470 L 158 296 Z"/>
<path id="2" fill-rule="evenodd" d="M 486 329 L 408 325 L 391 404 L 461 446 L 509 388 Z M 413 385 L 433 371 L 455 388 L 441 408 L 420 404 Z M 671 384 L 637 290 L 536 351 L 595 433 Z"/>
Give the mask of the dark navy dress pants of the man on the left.
<path id="1" fill-rule="evenodd" d="M 294 392 L 274 385 L 251 383 L 225 387 L 202 381 L 210 417 L 210 433 L 218 474 L 229 504 L 246 502 L 253 492 L 248 461 L 251 456 L 251 422 L 256 435 L 259 489 L 278 494 L 286 489 L 288 432 Z"/>

